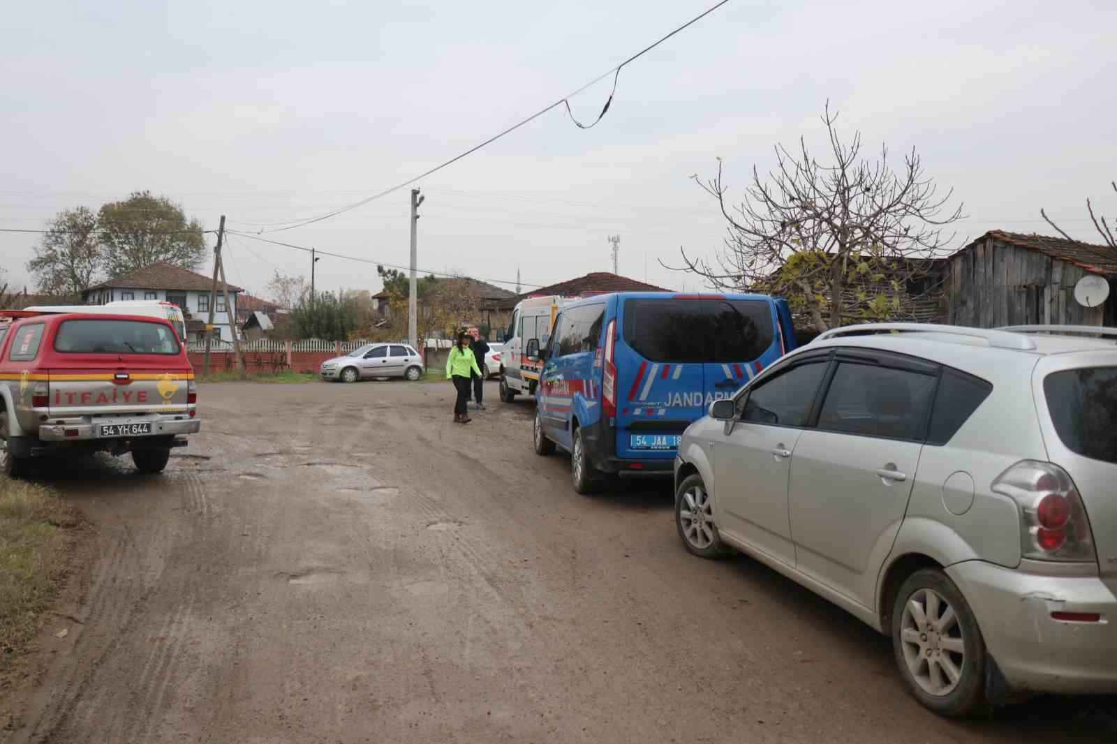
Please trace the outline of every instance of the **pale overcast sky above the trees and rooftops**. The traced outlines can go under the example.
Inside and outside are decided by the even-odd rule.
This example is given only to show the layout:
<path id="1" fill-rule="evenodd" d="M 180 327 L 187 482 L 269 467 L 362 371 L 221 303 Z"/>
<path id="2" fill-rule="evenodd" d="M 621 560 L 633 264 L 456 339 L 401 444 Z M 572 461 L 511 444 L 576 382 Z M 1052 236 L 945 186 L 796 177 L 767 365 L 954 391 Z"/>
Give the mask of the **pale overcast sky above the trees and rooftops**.
<path id="1" fill-rule="evenodd" d="M 394 185 L 576 89 L 714 0 L 17 3 L 0 25 L 0 227 L 150 189 L 208 229 L 314 217 Z M 671 288 L 680 246 L 720 245 L 716 202 L 772 145 L 842 131 L 916 146 L 989 229 L 1095 240 L 1085 198 L 1117 218 L 1117 2 L 731 0 L 626 67 L 594 128 L 555 109 L 423 179 L 419 266 L 525 288 L 611 268 Z M 592 121 L 601 83 L 571 105 Z M 823 154 L 818 149 L 819 154 Z M 407 190 L 270 237 L 404 265 Z M 264 227 L 262 229 L 270 229 Z M 18 284 L 39 236 L 0 233 Z M 212 237 L 210 236 L 212 244 Z M 264 293 L 306 255 L 235 238 L 229 280 Z M 647 269 L 646 269 L 647 266 Z M 203 269 L 204 270 L 204 269 Z M 323 289 L 379 289 L 325 258 Z M 508 285 L 505 285 L 508 286 Z"/>

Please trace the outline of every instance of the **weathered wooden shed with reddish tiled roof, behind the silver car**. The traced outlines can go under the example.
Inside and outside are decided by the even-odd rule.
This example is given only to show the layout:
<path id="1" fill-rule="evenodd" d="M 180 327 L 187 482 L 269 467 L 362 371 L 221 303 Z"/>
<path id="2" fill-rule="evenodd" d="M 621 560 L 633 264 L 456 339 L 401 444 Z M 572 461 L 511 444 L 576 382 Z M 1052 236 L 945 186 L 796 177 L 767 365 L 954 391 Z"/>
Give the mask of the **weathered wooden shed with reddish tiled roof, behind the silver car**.
<path id="1" fill-rule="evenodd" d="M 947 323 L 1114 325 L 1117 255 L 1106 246 L 991 230 L 949 260 Z M 1097 307 L 1075 299 L 1088 274 L 1105 277 L 1109 298 Z"/>

